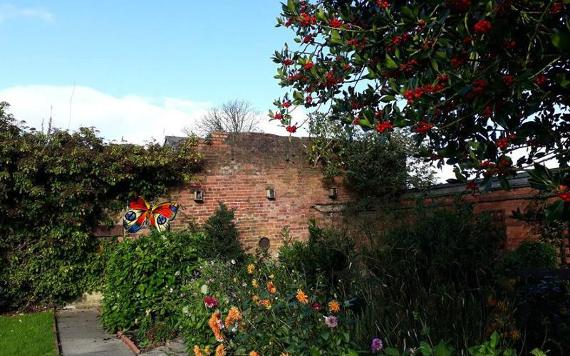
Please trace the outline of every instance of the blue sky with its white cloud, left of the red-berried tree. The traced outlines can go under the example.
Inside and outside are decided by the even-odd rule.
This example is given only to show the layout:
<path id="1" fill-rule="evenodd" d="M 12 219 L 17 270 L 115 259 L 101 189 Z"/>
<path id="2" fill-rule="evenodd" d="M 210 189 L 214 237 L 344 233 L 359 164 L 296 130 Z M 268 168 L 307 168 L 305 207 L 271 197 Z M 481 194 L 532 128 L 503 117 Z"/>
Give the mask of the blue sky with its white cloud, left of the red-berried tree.
<path id="1" fill-rule="evenodd" d="M 280 7 L 0 0 L 0 100 L 34 126 L 51 113 L 63 128 L 97 126 L 110 139 L 139 142 L 178 134 L 229 99 L 266 113 L 284 93 L 270 57 L 292 39 L 275 27 Z"/>

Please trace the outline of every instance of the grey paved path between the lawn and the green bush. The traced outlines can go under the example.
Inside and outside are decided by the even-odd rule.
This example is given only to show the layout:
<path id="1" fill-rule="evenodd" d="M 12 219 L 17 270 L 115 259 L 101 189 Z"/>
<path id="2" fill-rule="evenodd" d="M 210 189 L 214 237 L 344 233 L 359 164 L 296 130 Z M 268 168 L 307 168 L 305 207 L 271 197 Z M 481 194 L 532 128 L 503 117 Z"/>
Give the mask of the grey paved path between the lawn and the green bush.
<path id="1" fill-rule="evenodd" d="M 132 356 L 115 335 L 103 330 L 96 309 L 69 309 L 56 313 L 63 356 Z"/>

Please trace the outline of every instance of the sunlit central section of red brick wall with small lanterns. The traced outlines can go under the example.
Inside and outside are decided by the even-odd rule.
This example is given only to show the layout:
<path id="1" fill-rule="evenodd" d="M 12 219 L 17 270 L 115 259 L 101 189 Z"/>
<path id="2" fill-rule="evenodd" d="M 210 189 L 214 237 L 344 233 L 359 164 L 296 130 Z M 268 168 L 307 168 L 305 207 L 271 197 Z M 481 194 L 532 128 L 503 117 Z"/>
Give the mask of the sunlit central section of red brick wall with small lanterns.
<path id="1" fill-rule="evenodd" d="M 282 244 L 285 227 L 291 238 L 307 238 L 309 219 L 331 222 L 330 214 L 319 212 L 314 205 L 336 205 L 349 198 L 337 184 L 338 197 L 329 198 L 329 185 L 323 182 L 320 169 L 308 163 L 307 142 L 259 133 L 214 134 L 209 144 L 200 145 L 203 173 L 171 194 L 181 206 L 173 228 L 203 223 L 223 202 L 236 209 L 235 222 L 246 249 L 268 237 L 275 251 Z M 266 197 L 268 187 L 275 190 L 274 200 Z M 194 201 L 195 189 L 204 191 L 203 203 Z"/>

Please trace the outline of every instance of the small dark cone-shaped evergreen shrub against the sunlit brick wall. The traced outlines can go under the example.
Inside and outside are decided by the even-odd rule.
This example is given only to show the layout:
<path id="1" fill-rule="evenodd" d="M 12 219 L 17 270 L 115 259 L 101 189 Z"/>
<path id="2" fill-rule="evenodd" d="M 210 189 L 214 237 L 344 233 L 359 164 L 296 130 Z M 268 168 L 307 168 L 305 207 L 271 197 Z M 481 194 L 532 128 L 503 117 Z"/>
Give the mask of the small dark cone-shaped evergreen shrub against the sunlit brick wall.
<path id="1" fill-rule="evenodd" d="M 204 232 L 204 257 L 222 260 L 243 258 L 243 250 L 239 243 L 239 233 L 234 220 L 234 211 L 220 203 L 214 214 L 206 220 Z"/>

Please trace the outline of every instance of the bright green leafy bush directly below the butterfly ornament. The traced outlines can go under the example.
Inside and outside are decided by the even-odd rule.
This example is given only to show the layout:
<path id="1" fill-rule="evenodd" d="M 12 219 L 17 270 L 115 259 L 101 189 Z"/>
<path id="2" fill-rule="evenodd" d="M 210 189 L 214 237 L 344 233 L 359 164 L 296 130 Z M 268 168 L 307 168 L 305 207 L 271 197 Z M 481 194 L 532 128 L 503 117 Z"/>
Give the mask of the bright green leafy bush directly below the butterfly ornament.
<path id="1" fill-rule="evenodd" d="M 111 332 L 135 331 L 143 345 L 178 332 L 181 287 L 200 259 L 200 233 L 153 233 L 116 244 L 105 269 L 102 321 Z"/>

